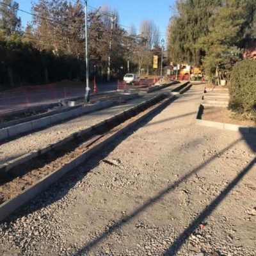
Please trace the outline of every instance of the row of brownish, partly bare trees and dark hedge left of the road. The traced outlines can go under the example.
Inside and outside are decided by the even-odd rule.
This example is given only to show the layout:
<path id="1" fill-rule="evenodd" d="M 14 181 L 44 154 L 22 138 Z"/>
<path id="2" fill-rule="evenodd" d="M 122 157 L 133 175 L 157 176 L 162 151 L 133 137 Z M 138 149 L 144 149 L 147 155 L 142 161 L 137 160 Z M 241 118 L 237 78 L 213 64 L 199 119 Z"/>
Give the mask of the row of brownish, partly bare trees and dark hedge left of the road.
<path id="1" fill-rule="evenodd" d="M 19 86 L 85 77 L 84 6 L 81 0 L 38 0 L 33 3 L 33 20 L 25 29 L 17 16 L 19 4 L 0 3 L 0 84 Z M 150 72 L 152 56 L 161 54 L 159 29 L 151 20 L 141 22 L 140 34 L 134 26 L 126 31 L 119 15 L 108 6 L 90 8 L 88 36 L 90 74 L 106 77 L 111 36 L 111 17 L 116 17 L 111 49 L 111 75 L 145 68 Z M 115 54 L 113 54 L 115 52 Z"/>

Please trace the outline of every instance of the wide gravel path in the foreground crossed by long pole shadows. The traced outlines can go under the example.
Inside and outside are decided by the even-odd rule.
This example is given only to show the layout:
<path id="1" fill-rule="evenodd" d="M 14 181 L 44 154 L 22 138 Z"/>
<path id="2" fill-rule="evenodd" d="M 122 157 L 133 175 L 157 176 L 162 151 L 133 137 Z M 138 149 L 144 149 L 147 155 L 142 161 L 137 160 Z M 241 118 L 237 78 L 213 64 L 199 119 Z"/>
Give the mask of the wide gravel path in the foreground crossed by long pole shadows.
<path id="1" fill-rule="evenodd" d="M 0 255 L 256 255 L 256 141 L 196 126 L 202 90 L 19 209 Z"/>

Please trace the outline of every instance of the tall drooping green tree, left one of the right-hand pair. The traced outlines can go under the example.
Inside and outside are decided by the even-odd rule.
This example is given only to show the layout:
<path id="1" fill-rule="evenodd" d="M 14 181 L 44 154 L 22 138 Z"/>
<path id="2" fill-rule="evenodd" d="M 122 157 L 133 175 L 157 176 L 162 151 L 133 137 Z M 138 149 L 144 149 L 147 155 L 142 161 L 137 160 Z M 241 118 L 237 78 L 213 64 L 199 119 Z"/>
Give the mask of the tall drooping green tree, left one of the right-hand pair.
<path id="1" fill-rule="evenodd" d="M 204 51 L 197 44 L 202 35 L 207 35 L 209 18 L 220 0 L 177 0 L 177 13 L 170 19 L 168 42 L 174 61 L 199 66 Z"/>

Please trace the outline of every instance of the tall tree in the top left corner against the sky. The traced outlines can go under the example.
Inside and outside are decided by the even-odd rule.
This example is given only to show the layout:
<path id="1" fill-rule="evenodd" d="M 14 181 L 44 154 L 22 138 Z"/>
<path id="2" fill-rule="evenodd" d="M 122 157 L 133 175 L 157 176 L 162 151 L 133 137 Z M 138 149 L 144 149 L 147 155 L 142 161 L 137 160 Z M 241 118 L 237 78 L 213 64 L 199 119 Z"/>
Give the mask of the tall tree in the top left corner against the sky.
<path id="1" fill-rule="evenodd" d="M 19 4 L 13 0 L 3 0 L 0 3 L 0 31 L 10 36 L 20 32 L 20 17 L 17 16 Z"/>

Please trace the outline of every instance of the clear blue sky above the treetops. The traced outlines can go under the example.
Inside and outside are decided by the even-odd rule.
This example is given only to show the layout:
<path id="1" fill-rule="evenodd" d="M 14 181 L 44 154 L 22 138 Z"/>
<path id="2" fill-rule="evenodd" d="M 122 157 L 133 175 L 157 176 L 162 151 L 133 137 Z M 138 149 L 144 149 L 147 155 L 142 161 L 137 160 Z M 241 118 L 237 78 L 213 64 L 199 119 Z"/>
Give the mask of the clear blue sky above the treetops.
<path id="1" fill-rule="evenodd" d="M 15 0 L 19 3 L 19 8 L 31 11 L 30 0 Z M 160 29 L 160 40 L 165 39 L 168 21 L 172 15 L 170 6 L 174 6 L 175 0 L 88 0 L 88 5 L 93 7 L 104 6 L 108 4 L 111 8 L 116 8 L 120 15 L 120 24 L 125 26 L 134 26 L 139 33 L 140 22 L 143 19 L 154 20 Z M 31 20 L 31 15 L 19 12 L 22 19 L 22 26 L 26 26 Z"/>

